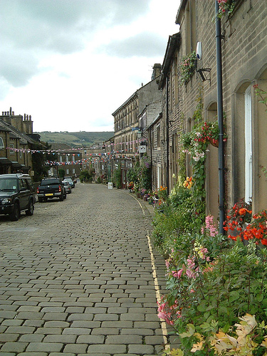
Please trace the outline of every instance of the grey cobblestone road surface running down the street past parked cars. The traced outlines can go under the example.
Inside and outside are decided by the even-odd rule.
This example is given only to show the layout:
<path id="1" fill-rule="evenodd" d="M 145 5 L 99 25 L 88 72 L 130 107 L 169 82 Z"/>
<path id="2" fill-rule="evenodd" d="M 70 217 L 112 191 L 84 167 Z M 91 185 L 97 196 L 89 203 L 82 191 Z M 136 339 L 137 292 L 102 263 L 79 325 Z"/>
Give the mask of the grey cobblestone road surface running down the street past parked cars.
<path id="1" fill-rule="evenodd" d="M 0 356 L 160 355 L 149 208 L 78 183 L 33 216 L 0 216 Z"/>

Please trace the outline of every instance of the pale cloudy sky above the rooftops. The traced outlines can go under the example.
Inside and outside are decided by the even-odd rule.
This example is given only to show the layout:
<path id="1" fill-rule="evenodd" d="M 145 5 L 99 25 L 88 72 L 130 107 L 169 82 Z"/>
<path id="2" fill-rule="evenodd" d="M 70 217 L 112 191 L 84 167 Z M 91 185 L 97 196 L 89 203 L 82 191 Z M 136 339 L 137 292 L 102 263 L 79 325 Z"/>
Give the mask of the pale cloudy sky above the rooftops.
<path id="1" fill-rule="evenodd" d="M 162 63 L 179 0 L 0 0 L 0 112 L 33 130 L 112 131 Z"/>

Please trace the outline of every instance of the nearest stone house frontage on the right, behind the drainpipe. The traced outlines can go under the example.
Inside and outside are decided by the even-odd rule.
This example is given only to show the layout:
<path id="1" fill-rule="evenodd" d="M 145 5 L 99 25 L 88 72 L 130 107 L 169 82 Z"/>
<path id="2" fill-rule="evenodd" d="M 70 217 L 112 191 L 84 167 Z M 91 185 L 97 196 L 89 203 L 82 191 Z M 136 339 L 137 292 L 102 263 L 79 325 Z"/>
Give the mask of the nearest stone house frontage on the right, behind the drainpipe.
<path id="1" fill-rule="evenodd" d="M 231 1 L 229 1 L 230 3 Z M 190 132 L 201 103 L 204 120 L 218 116 L 217 53 L 221 41 L 222 108 L 227 140 L 223 143 L 224 203 L 228 209 L 239 199 L 252 201 L 253 211 L 266 208 L 266 105 L 258 102 L 255 86 L 267 91 L 267 3 L 237 0 L 234 11 L 221 14 L 221 36 L 216 36 L 216 1 L 182 0 L 176 23 L 179 33 L 170 36 L 162 65 L 164 159 L 162 171 L 169 189 L 182 169 L 182 132 Z M 217 28 L 218 31 L 218 28 Z M 201 48 L 188 80 L 182 80 L 180 63 Z M 200 52 L 198 52 L 200 53 Z M 193 53 L 194 54 L 194 53 Z M 265 94 L 266 96 L 266 94 Z M 219 99 L 218 99 L 219 98 Z M 206 214 L 219 214 L 219 152 L 206 152 Z M 186 173 L 192 174 L 189 155 Z M 164 169 L 166 167 L 166 169 Z M 262 168 L 263 167 L 263 168 Z"/>

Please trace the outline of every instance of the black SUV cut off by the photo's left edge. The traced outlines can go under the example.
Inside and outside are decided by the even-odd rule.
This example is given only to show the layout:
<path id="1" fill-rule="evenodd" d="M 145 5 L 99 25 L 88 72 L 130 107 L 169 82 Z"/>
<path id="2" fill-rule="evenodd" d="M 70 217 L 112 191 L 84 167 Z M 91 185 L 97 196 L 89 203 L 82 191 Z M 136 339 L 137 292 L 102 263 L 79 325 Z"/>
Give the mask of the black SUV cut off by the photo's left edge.
<path id="1" fill-rule="evenodd" d="M 9 214 L 11 221 L 19 220 L 21 211 L 32 215 L 35 192 L 28 174 L 0 175 L 0 214 Z"/>

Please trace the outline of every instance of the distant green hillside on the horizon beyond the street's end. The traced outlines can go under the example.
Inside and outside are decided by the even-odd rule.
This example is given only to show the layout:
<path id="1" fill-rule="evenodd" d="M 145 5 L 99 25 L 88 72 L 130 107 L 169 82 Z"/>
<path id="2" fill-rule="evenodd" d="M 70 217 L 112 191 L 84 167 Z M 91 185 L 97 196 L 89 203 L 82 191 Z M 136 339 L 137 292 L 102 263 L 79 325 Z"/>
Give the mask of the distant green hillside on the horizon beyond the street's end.
<path id="1" fill-rule="evenodd" d="M 114 132 L 34 132 L 41 136 L 43 142 L 67 143 L 70 146 L 92 146 L 110 139 Z"/>

